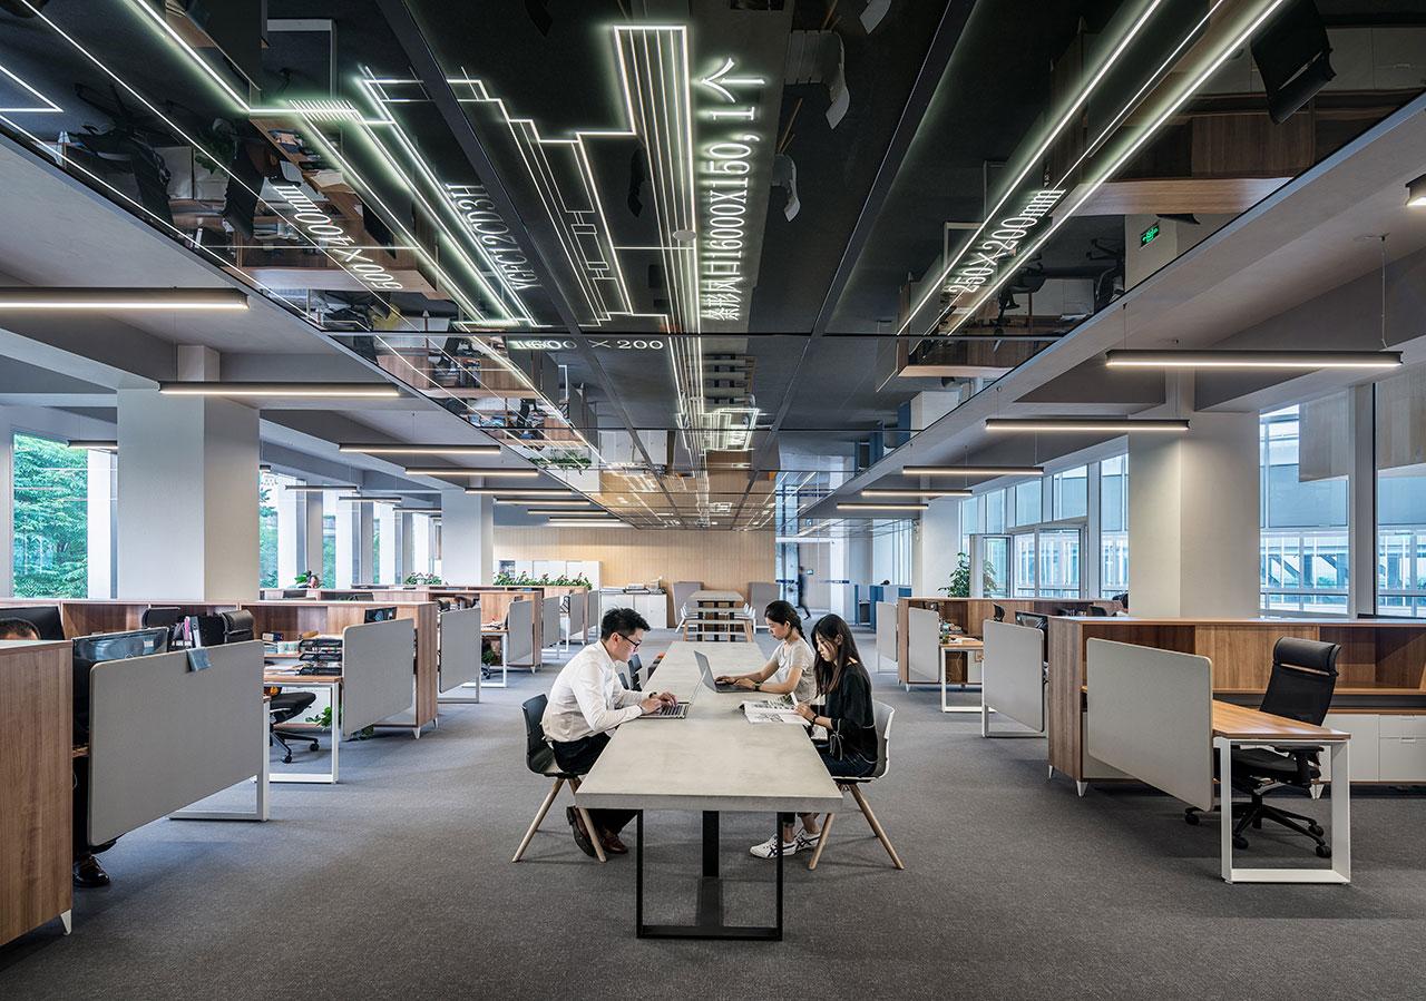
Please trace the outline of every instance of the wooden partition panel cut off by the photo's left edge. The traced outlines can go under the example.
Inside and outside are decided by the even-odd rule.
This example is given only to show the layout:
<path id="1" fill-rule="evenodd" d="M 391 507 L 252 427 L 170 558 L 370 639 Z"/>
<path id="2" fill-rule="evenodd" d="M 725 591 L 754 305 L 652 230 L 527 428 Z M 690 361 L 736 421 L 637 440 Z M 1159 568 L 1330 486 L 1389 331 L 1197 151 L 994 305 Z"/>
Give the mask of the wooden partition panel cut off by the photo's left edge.
<path id="1" fill-rule="evenodd" d="M 70 645 L 0 640 L 0 945 L 70 924 Z"/>

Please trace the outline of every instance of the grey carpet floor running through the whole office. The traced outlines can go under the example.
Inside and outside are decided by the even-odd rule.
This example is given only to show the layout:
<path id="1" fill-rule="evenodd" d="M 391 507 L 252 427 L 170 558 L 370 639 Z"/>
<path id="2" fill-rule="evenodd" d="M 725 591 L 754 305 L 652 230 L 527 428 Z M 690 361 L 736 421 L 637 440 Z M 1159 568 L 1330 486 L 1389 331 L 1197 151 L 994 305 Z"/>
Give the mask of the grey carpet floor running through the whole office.
<path id="1" fill-rule="evenodd" d="M 548 790 L 519 703 L 552 677 L 512 673 L 421 740 L 345 744 L 342 783 L 275 786 L 268 824 L 125 836 L 73 935 L 0 947 L 0 998 L 1426 995 L 1426 800 L 1353 797 L 1350 887 L 1231 887 L 1216 821 L 1141 787 L 1078 799 L 1045 780 L 1042 741 L 983 740 L 891 674 L 891 771 L 867 791 L 907 870 L 850 811 L 816 873 L 789 863 L 786 941 L 639 941 L 633 860 L 580 854 L 568 794 L 509 861 Z M 769 821 L 723 820 L 730 920 L 771 917 L 771 867 L 747 854 Z M 650 814 L 646 836 L 649 920 L 684 921 L 697 818 Z M 1302 844 L 1251 853 L 1312 860 Z"/>

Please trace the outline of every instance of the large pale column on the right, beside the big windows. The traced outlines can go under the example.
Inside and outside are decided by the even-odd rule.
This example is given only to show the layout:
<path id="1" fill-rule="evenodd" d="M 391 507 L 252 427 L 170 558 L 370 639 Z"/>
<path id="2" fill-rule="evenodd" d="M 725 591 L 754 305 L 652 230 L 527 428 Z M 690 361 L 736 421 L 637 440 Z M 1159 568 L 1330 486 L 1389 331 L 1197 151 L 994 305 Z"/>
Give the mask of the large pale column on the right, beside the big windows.
<path id="1" fill-rule="evenodd" d="M 1129 435 L 1129 609 L 1258 615 L 1258 415 L 1194 414 Z"/>

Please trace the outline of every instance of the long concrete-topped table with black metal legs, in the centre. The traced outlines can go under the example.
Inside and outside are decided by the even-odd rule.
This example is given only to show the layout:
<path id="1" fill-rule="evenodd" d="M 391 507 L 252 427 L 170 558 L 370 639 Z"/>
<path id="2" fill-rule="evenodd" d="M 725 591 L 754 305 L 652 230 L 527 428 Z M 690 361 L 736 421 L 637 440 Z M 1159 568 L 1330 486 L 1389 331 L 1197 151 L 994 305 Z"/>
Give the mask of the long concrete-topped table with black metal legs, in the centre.
<path id="1" fill-rule="evenodd" d="M 692 702 L 687 717 L 625 723 L 579 786 L 575 800 L 588 810 L 639 810 L 636 833 L 636 914 L 640 938 L 783 937 L 783 860 L 777 858 L 777 924 L 723 924 L 719 878 L 719 814 L 836 813 L 841 791 L 803 727 L 756 726 L 739 704 L 757 693 L 720 693 L 703 684 L 694 652 L 707 656 L 714 674 L 743 674 L 763 666 L 756 645 L 674 642 L 645 686 Z M 694 924 L 643 921 L 643 811 L 697 810 L 703 814 L 703 876 Z M 777 828 L 781 834 L 780 827 Z"/>

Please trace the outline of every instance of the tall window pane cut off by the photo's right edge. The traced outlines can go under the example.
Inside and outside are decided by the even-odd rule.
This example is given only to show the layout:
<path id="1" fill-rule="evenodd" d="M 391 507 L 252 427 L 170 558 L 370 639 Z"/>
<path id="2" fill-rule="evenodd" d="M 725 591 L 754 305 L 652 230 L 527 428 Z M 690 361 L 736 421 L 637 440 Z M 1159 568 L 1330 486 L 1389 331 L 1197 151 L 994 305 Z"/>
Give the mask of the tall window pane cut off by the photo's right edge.
<path id="1" fill-rule="evenodd" d="M 1376 610 L 1426 617 L 1426 369 L 1376 384 Z"/>

